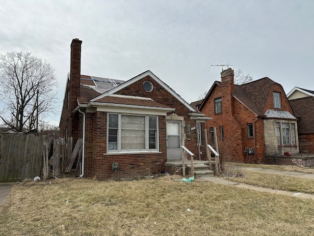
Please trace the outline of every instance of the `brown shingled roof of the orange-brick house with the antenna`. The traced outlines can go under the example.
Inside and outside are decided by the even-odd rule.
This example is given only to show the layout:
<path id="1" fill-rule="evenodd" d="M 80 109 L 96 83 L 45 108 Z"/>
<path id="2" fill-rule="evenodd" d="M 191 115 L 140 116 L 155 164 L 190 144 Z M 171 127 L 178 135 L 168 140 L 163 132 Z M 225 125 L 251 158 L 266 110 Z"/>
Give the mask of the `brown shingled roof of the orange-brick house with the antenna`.
<path id="1" fill-rule="evenodd" d="M 268 77 L 264 77 L 262 79 L 255 80 L 243 85 L 235 85 L 235 90 L 232 92 L 232 95 L 237 101 L 239 101 L 243 106 L 252 111 L 256 116 L 265 117 L 263 111 L 269 95 L 269 91 L 274 84 L 282 87 L 280 84 L 272 81 Z M 211 92 L 216 86 L 221 87 L 221 82 L 215 81 L 213 83 L 199 108 L 200 110 L 202 109 L 202 107 L 208 100 Z"/>

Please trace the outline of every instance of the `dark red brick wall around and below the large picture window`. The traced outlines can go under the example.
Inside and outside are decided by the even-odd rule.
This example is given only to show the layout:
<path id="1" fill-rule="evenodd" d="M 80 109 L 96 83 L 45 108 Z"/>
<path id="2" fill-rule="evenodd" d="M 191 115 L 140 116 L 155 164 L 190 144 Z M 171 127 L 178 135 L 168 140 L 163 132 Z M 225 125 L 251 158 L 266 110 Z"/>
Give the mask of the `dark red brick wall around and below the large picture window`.
<path id="1" fill-rule="evenodd" d="M 163 173 L 167 160 L 165 117 L 159 119 L 159 152 L 106 154 L 107 152 L 107 113 L 86 114 L 85 138 L 85 177 L 97 179 L 136 177 Z M 104 155 L 105 154 L 105 155 Z M 119 169 L 112 171 L 112 162 L 117 162 Z"/>

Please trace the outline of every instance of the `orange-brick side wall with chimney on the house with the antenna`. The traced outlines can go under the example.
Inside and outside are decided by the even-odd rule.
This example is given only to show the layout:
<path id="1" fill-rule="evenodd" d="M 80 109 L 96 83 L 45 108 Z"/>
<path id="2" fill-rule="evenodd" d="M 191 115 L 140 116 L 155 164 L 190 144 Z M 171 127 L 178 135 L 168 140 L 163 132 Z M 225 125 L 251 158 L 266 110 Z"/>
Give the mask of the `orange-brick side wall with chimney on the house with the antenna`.
<path id="1" fill-rule="evenodd" d="M 228 76 L 222 78 L 222 87 L 216 85 L 213 88 L 201 110 L 208 117 L 212 117 L 206 123 L 208 140 L 210 140 L 209 128 L 216 127 L 219 152 L 223 160 L 254 163 L 256 158 L 258 163 L 263 163 L 265 154 L 263 120 L 257 119 L 255 114 L 232 97 L 231 91 L 234 88 L 231 85 L 232 74 Z M 219 97 L 222 97 L 222 114 L 214 114 L 214 99 Z M 248 123 L 253 123 L 255 138 L 248 137 Z M 223 140 L 220 140 L 220 126 L 224 129 Z M 254 142 L 256 142 L 256 147 Z M 249 147 L 252 147 L 255 152 L 251 160 L 244 153 L 245 148 Z"/>

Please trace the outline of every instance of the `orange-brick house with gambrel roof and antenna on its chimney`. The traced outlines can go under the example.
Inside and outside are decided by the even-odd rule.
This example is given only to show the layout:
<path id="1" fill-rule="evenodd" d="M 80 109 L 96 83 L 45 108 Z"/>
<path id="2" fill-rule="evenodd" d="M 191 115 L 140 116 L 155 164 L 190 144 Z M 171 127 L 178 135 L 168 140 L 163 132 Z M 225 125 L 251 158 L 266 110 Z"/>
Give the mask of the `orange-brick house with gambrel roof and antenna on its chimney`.
<path id="1" fill-rule="evenodd" d="M 224 160 L 264 163 L 264 155 L 298 150 L 297 118 L 282 86 L 265 77 L 234 84 L 231 68 L 221 72 L 199 106 L 209 141 L 216 128 L 219 152 Z"/>

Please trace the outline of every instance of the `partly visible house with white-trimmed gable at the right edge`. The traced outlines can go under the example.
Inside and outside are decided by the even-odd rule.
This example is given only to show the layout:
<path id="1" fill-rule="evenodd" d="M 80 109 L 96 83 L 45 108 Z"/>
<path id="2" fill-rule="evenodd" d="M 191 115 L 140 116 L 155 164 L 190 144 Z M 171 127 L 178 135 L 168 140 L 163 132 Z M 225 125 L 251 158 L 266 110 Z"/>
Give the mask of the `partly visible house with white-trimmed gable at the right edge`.
<path id="1" fill-rule="evenodd" d="M 298 120 L 300 144 L 314 144 L 314 91 L 293 88 L 287 95 Z"/>

